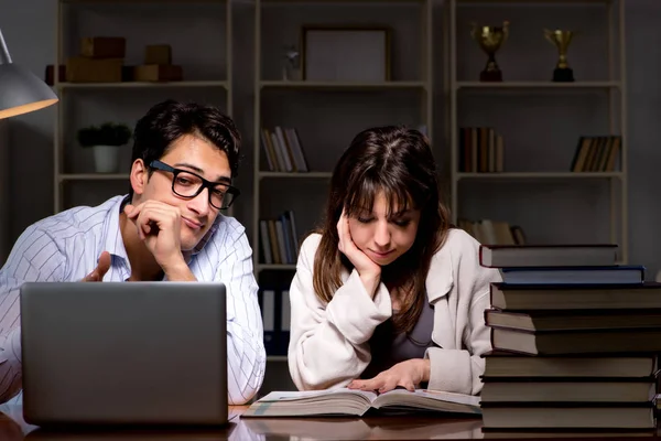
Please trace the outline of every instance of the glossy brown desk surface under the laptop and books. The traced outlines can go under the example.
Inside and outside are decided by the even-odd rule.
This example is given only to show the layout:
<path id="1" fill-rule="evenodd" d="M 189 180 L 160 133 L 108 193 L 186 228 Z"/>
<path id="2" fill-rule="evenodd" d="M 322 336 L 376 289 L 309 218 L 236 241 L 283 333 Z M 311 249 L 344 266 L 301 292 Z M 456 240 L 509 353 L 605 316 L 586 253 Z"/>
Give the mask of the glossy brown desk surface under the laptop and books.
<path id="1" fill-rule="evenodd" d="M 559 433 L 484 433 L 481 419 L 441 419 L 432 417 L 370 417 L 370 418 L 240 418 L 247 407 L 229 408 L 229 424 L 208 429 L 162 429 L 96 432 L 48 432 L 25 423 L 21 406 L 0 406 L 0 440 L 2 441 L 210 441 L 210 440 L 465 440 L 499 439 L 562 439 L 594 440 L 597 438 L 640 439 L 658 434 L 559 434 Z"/>

